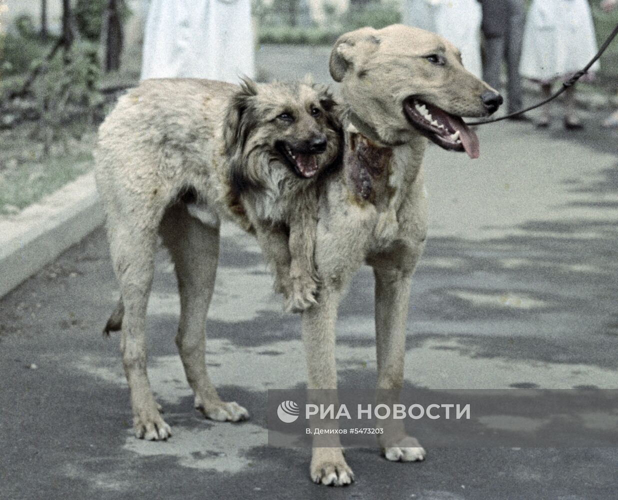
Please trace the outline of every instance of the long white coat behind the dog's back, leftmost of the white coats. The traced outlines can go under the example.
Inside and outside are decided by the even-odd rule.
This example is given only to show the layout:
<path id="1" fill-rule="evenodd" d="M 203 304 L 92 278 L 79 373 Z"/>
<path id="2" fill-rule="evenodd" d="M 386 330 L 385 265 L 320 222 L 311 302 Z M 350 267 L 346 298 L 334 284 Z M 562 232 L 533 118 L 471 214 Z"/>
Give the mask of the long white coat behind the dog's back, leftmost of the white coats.
<path id="1" fill-rule="evenodd" d="M 250 0 L 152 0 L 142 80 L 255 76 Z"/>

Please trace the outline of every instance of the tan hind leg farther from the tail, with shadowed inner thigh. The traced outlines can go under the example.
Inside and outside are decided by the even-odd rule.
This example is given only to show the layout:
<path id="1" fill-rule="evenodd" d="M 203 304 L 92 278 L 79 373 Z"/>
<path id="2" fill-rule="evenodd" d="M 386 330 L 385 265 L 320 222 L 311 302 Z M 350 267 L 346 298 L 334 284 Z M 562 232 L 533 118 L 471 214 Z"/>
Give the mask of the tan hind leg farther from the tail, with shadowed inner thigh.
<path id="1" fill-rule="evenodd" d="M 176 345 L 195 394 L 195 407 L 211 420 L 246 420 L 246 409 L 219 398 L 206 370 L 206 316 L 219 259 L 219 227 L 206 226 L 190 216 L 184 205 L 176 205 L 164 216 L 160 234 L 176 269 L 180 294 Z"/>

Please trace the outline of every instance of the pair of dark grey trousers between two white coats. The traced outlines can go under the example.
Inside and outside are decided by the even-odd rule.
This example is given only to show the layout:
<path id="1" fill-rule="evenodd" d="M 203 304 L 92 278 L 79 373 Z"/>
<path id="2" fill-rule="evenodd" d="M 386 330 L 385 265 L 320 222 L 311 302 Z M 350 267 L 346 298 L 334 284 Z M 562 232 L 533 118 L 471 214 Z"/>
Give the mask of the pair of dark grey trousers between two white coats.
<path id="1" fill-rule="evenodd" d="M 489 0 L 496 1 L 496 0 Z M 485 7 L 484 2 L 483 7 Z M 522 83 L 519 76 L 519 59 L 522 55 L 523 26 L 526 20 L 523 0 L 504 0 L 499 11 L 483 9 L 483 16 L 491 15 L 493 19 L 483 19 L 485 33 L 485 62 L 483 79 L 496 90 L 500 90 L 502 61 L 506 61 L 508 111 L 522 109 Z M 493 7 L 493 6 L 492 6 Z M 495 7 L 494 7 L 495 8 Z M 486 29 L 499 24 L 497 29 Z"/>

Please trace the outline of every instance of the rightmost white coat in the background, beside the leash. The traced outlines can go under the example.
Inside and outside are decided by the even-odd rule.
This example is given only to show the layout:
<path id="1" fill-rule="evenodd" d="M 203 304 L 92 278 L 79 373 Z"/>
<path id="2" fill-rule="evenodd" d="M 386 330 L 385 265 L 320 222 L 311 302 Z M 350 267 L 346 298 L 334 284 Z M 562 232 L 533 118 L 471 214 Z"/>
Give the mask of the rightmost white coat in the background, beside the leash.
<path id="1" fill-rule="evenodd" d="M 523 35 L 519 71 L 550 83 L 582 69 L 597 51 L 587 0 L 533 0 Z M 590 72 L 598 71 L 599 62 Z"/>

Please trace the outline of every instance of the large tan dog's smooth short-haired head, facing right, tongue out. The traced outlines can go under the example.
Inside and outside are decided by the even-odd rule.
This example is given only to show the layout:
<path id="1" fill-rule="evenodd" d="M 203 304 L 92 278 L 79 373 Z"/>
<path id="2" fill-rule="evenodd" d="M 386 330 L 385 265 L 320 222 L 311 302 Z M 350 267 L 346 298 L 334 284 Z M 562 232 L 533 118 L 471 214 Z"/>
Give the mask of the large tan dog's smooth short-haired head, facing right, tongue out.
<path id="1" fill-rule="evenodd" d="M 345 33 L 330 70 L 350 110 L 387 144 L 421 133 L 476 158 L 478 139 L 461 117 L 488 116 L 502 104 L 496 90 L 464 69 L 448 40 L 404 25 Z"/>

